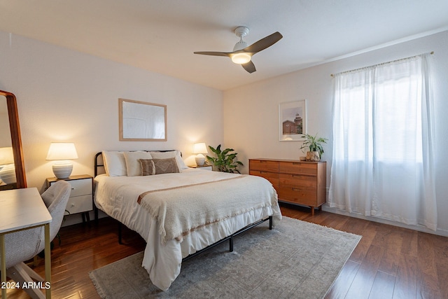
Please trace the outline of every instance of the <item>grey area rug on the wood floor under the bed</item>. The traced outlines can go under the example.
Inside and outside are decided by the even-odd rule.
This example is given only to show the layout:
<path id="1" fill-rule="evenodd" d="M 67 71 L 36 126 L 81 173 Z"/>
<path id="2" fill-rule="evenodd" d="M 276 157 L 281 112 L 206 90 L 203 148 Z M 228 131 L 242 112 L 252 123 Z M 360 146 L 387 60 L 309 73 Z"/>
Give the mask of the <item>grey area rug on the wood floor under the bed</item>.
<path id="1" fill-rule="evenodd" d="M 182 264 L 168 291 L 151 284 L 143 252 L 90 272 L 103 299 L 323 298 L 360 236 L 283 216 Z"/>

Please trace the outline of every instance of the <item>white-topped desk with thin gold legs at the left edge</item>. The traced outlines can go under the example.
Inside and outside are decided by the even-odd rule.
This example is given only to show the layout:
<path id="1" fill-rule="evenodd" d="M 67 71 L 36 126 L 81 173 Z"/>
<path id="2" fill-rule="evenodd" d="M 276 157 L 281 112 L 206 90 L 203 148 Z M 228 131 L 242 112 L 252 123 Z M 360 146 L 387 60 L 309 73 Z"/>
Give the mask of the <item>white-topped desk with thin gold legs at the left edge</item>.
<path id="1" fill-rule="evenodd" d="M 5 235 L 37 226 L 45 227 L 45 281 L 51 286 L 50 222 L 51 215 L 43 203 L 37 188 L 0 191 L 0 253 L 1 282 L 6 281 Z M 51 298 L 50 288 L 45 297 Z M 6 288 L 1 289 L 1 298 L 6 298 Z"/>

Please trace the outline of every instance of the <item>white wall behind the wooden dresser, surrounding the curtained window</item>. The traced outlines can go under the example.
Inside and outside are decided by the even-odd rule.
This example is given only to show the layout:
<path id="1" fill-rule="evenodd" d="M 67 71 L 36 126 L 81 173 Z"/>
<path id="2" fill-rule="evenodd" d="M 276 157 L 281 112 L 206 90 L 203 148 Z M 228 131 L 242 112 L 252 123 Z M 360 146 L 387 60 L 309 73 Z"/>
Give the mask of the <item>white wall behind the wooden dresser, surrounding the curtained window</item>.
<path id="1" fill-rule="evenodd" d="M 278 106 L 281 102 L 307 99 L 307 133 L 330 139 L 323 160 L 330 186 L 332 135 L 332 77 L 330 74 L 367 67 L 435 51 L 433 82 L 435 98 L 436 188 L 438 226 L 448 234 L 448 32 L 407 41 L 343 60 L 297 71 L 267 81 L 224 92 L 224 146 L 232 147 L 248 172 L 248 158 L 298 159 L 304 155 L 300 141 L 279 141 Z M 294 50 L 294 49 L 291 49 Z M 324 207 L 328 211 L 335 211 Z M 354 215 L 353 215 L 354 216 Z M 377 220 L 377 219 L 376 219 Z M 397 224 L 397 223 L 394 223 Z M 421 228 L 415 228 L 424 230 Z"/>

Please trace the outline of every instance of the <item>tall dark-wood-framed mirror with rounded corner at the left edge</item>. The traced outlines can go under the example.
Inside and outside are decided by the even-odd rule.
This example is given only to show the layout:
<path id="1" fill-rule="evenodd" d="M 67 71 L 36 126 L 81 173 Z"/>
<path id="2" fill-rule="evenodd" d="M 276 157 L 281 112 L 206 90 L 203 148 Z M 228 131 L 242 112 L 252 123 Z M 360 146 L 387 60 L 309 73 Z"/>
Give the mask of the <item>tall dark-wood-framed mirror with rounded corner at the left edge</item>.
<path id="1" fill-rule="evenodd" d="M 0 90 L 0 190 L 27 188 L 15 95 Z"/>

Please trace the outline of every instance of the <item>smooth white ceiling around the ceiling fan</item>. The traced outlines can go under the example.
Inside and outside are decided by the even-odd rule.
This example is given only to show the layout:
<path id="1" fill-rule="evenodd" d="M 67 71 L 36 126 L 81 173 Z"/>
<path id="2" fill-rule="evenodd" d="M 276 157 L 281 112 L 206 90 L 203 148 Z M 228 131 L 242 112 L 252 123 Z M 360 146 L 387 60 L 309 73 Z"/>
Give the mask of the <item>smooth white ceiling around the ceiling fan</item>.
<path id="1" fill-rule="evenodd" d="M 255 73 L 193 54 L 232 51 L 240 25 L 283 34 Z M 447 0 L 0 0 L 0 31 L 219 90 L 447 29 Z"/>

